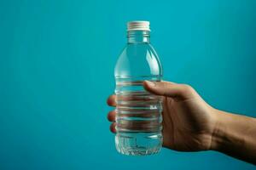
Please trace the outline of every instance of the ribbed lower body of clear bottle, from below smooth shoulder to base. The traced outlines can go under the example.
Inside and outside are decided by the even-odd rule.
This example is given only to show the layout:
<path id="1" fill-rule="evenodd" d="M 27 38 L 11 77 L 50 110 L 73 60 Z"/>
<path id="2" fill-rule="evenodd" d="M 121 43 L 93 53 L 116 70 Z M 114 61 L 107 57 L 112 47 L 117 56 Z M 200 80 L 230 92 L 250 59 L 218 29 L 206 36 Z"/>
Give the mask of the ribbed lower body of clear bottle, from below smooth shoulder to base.
<path id="1" fill-rule="evenodd" d="M 117 150 L 125 155 L 151 155 L 162 145 L 161 97 L 143 88 L 144 80 L 160 81 L 160 76 L 116 77 Z"/>

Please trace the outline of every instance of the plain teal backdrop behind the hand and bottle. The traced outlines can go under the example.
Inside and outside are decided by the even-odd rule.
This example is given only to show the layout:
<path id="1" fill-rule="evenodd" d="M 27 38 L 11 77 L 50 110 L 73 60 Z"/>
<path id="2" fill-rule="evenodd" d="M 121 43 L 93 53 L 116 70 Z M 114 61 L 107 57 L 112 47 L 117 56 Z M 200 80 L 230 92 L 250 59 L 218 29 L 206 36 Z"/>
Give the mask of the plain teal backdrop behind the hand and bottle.
<path id="1" fill-rule="evenodd" d="M 122 156 L 106 99 L 125 23 L 149 20 L 164 77 L 256 116 L 256 1 L 0 1 L 0 169 L 255 169 L 223 154 Z"/>

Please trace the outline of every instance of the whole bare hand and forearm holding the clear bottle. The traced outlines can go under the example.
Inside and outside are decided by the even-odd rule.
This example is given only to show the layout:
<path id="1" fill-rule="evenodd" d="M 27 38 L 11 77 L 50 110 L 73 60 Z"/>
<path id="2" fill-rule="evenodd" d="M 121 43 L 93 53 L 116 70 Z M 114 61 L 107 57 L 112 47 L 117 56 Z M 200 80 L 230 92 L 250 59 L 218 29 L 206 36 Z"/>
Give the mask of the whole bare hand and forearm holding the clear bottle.
<path id="1" fill-rule="evenodd" d="M 171 150 L 217 150 L 256 165 L 256 119 L 218 111 L 195 89 L 174 82 L 143 82 L 144 88 L 163 98 L 163 146 Z M 115 95 L 108 105 L 115 107 Z M 108 113 L 115 133 L 115 111 Z"/>

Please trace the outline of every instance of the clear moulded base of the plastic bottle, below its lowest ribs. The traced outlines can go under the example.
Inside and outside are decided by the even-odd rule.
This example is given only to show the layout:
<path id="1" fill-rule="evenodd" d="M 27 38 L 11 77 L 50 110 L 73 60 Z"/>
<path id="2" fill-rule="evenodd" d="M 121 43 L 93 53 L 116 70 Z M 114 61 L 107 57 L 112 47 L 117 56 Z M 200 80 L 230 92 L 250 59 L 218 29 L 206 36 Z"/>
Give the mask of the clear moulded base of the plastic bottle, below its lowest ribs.
<path id="1" fill-rule="evenodd" d="M 148 156 L 160 152 L 161 133 L 118 133 L 115 137 L 116 149 L 126 156 Z"/>

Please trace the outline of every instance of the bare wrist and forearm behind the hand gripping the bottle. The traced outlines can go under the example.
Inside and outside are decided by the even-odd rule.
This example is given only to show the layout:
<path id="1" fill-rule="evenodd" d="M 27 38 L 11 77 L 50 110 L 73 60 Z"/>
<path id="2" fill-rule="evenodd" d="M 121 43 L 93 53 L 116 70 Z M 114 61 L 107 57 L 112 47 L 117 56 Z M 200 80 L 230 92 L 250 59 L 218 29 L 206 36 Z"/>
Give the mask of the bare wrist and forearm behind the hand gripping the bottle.
<path id="1" fill-rule="evenodd" d="M 256 119 L 213 110 L 217 117 L 212 150 L 256 165 Z"/>

